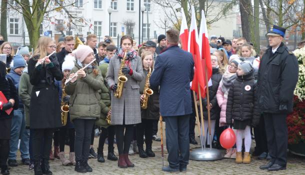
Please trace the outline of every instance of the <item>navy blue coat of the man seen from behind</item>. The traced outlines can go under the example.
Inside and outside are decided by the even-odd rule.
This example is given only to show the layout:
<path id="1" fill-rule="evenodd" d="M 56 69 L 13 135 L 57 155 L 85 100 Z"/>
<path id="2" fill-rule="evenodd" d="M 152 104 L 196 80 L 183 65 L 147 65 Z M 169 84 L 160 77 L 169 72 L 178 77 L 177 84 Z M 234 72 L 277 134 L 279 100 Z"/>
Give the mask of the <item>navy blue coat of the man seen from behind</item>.
<path id="1" fill-rule="evenodd" d="M 192 55 L 172 45 L 156 58 L 150 76 L 152 89 L 160 86 L 160 113 L 177 116 L 192 113 L 189 82 L 193 79 Z"/>

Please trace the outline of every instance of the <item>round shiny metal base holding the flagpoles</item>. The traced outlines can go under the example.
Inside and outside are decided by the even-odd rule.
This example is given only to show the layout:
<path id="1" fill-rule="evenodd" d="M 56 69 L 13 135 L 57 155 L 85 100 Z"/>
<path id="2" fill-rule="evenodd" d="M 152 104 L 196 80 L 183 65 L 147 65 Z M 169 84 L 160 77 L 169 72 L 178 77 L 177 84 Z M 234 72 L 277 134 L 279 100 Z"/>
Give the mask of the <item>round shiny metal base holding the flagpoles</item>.
<path id="1" fill-rule="evenodd" d="M 214 148 L 198 148 L 189 153 L 189 159 L 199 161 L 214 161 L 223 158 L 222 153 Z"/>

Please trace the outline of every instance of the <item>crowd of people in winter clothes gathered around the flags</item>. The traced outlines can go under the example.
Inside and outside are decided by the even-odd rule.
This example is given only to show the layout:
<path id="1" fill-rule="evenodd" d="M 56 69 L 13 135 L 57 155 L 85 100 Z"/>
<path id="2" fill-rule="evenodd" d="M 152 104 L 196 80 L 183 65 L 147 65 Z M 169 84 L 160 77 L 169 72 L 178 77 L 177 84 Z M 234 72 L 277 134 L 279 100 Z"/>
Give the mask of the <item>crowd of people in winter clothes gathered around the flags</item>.
<path id="1" fill-rule="evenodd" d="M 284 34 L 284 28 L 273 25 L 266 34 L 268 47 L 259 53 L 244 37 L 210 37 L 211 85 L 209 100 L 202 99 L 204 133 L 210 108 L 212 137 L 206 138 L 206 146 L 223 149 L 220 134 L 233 128 L 236 144 L 224 157 L 236 163 L 250 163 L 251 156 L 258 156 L 269 160 L 261 169 L 286 168 L 285 118 L 292 111 L 298 63 L 282 43 Z M 163 170 L 186 171 L 189 144 L 198 144 L 194 108 L 199 100 L 193 100 L 190 90 L 194 61 L 180 48 L 177 30 L 169 29 L 157 40 L 139 45 L 124 35 L 118 46 L 109 36 L 97 43 L 94 34 L 85 42 L 70 35 L 58 41 L 42 36 L 33 52 L 24 46 L 15 54 L 10 42 L 1 37 L 2 174 L 9 174 L 7 164 L 18 165 L 18 148 L 22 163 L 34 174 L 52 174 L 49 160 L 55 158 L 64 166 L 73 165 L 77 172 L 91 172 L 88 158 L 104 162 L 105 143 L 108 160 L 117 160 L 121 168 L 133 167 L 129 155 L 155 156 L 152 140 L 160 141 L 160 115 L 166 123 L 169 163 Z M 118 81 L 120 76 L 127 81 Z M 143 108 L 147 86 L 153 93 Z M 68 105 L 68 111 L 62 111 L 63 105 Z M 99 136 L 97 153 L 94 135 Z M 253 137 L 256 145 L 250 152 Z"/>

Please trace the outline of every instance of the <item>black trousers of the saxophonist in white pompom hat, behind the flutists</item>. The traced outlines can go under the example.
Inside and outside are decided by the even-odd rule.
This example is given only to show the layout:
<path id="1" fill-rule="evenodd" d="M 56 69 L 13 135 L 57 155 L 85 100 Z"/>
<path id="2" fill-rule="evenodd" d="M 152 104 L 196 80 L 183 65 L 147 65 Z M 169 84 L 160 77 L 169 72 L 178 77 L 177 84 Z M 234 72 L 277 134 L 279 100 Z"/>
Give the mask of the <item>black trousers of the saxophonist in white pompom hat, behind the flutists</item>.
<path id="1" fill-rule="evenodd" d="M 74 152 L 75 129 L 66 128 L 66 127 L 59 128 L 59 151 L 60 152 L 64 151 L 64 142 L 65 142 L 66 132 L 68 132 L 68 135 L 69 135 L 70 152 Z"/>

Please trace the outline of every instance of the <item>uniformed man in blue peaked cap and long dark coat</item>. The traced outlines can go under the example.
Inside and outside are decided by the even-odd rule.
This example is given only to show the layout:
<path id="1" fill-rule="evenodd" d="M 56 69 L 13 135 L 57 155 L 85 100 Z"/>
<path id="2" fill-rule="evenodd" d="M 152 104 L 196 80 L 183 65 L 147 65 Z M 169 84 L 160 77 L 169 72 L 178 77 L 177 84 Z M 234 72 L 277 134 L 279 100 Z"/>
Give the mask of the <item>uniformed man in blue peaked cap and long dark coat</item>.
<path id="1" fill-rule="evenodd" d="M 293 91 L 298 79 L 296 57 L 282 43 L 285 29 L 273 25 L 268 36 L 270 47 L 263 54 L 257 79 L 257 100 L 263 112 L 271 160 L 261 169 L 286 169 L 288 131 L 286 116 L 292 111 Z"/>

